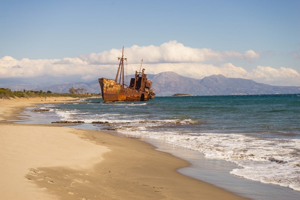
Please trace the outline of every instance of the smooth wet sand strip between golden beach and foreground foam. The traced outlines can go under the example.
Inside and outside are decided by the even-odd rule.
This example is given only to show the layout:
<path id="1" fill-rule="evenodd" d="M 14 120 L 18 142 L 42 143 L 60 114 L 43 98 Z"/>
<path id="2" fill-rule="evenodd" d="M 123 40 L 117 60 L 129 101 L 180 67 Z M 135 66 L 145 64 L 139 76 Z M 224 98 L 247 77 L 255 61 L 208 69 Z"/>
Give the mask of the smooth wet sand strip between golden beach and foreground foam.
<path id="1" fill-rule="evenodd" d="M 179 173 L 213 184 L 237 195 L 257 200 L 294 200 L 299 197 L 299 191 L 288 187 L 265 184 L 231 175 L 229 172 L 232 169 L 240 168 L 235 163 L 205 159 L 201 152 L 154 139 L 144 138 L 141 140 L 156 146 L 158 151 L 170 153 L 190 163 L 190 166 L 178 169 Z"/>

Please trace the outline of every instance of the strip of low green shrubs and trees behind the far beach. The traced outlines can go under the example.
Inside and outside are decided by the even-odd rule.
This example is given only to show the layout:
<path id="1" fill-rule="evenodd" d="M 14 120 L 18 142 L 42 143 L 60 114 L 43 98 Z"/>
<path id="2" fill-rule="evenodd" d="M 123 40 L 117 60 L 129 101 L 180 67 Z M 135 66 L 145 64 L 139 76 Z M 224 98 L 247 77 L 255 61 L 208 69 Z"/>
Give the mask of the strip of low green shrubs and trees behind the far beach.
<path id="1" fill-rule="evenodd" d="M 101 94 L 89 94 L 89 93 L 53 93 L 51 91 L 11 91 L 9 88 L 0 88 L 0 99 L 10 98 L 35 98 L 35 97 L 73 97 L 73 98 L 88 98 L 88 97 L 101 97 Z"/>

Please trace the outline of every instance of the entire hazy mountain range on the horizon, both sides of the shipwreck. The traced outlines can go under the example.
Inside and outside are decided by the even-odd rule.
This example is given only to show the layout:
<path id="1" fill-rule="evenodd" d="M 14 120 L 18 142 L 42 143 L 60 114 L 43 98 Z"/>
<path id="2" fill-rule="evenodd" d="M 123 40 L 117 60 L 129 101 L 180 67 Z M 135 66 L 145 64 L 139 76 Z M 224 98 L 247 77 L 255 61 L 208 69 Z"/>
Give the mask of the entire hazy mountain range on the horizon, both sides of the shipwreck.
<path id="1" fill-rule="evenodd" d="M 227 78 L 221 74 L 206 76 L 203 79 L 193 79 L 181 76 L 175 72 L 162 72 L 159 74 L 148 74 L 155 89 L 156 96 L 171 96 L 176 93 L 192 95 L 242 95 L 242 94 L 298 94 L 300 86 L 273 86 L 258 83 L 250 79 Z M 134 75 L 125 77 L 130 80 Z M 101 78 L 101 77 L 99 77 Z M 2 82 L 3 83 L 3 82 Z M 12 83 L 9 83 L 13 87 Z M 128 84 L 129 85 L 129 84 Z M 0 87 L 7 87 L 1 84 Z M 88 93 L 101 93 L 98 80 L 93 82 L 73 82 L 54 85 L 18 85 L 22 89 L 35 91 L 52 91 L 68 93 L 69 88 L 84 88 Z"/>

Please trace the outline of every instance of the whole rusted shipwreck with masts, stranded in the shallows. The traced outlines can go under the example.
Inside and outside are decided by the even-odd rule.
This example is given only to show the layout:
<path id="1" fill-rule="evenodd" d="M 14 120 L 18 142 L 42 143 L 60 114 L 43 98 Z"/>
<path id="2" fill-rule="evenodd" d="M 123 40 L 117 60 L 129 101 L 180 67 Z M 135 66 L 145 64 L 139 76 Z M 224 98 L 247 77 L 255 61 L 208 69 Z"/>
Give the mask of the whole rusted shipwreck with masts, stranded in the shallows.
<path id="1" fill-rule="evenodd" d="M 127 61 L 127 58 L 124 57 L 124 46 L 122 49 L 122 57 L 118 59 L 120 60 L 120 64 L 116 74 L 116 79 L 98 79 L 104 102 L 148 101 L 153 99 L 155 94 L 154 89 L 152 88 L 152 82 L 148 80 L 147 74 L 144 73 L 145 69 L 143 69 L 141 72 L 143 60 L 140 71 L 135 71 L 135 77 L 131 78 L 130 85 L 126 85 L 124 83 L 124 61 Z"/>

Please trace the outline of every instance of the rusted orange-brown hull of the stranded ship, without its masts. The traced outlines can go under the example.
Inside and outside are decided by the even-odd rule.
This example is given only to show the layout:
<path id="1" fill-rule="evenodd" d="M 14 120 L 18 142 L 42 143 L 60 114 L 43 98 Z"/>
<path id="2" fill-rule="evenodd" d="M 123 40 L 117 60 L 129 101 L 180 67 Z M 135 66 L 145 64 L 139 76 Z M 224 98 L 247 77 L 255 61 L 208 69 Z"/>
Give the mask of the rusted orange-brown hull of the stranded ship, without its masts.
<path id="1" fill-rule="evenodd" d="M 98 79 L 101 86 L 102 98 L 104 102 L 108 101 L 148 101 L 154 98 L 152 90 L 144 88 L 142 91 L 134 88 L 125 88 L 115 80 L 101 78 Z"/>

